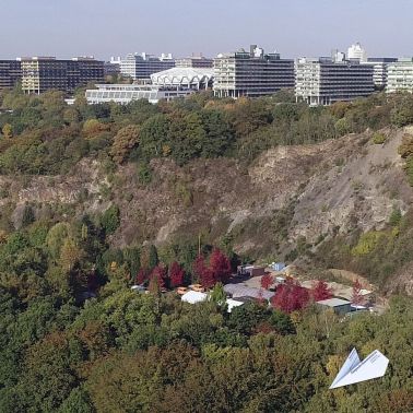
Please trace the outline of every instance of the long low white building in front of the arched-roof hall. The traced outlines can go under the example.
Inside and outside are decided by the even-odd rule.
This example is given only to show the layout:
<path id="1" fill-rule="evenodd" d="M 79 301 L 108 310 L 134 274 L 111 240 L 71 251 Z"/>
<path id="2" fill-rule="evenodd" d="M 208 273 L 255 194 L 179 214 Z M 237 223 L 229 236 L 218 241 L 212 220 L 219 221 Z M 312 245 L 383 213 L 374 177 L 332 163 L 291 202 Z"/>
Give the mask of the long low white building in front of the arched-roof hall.
<path id="1" fill-rule="evenodd" d="M 146 99 L 156 104 L 161 99 L 172 101 L 182 98 L 194 91 L 178 87 L 161 87 L 140 84 L 96 84 L 97 88 L 86 90 L 85 96 L 91 105 L 114 102 L 126 105 L 132 101 Z"/>

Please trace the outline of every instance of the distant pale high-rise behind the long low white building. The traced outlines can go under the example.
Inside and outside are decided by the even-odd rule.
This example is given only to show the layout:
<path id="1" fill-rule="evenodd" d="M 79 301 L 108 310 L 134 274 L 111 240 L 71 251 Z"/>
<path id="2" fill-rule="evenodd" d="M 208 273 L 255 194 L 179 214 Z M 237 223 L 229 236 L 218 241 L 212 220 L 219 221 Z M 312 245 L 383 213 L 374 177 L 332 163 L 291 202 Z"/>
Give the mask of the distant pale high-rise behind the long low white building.
<path id="1" fill-rule="evenodd" d="M 175 60 L 170 54 L 161 57 L 143 54 L 129 54 L 120 61 L 120 73 L 133 80 L 150 80 L 151 74 L 162 72 L 175 67 Z"/>

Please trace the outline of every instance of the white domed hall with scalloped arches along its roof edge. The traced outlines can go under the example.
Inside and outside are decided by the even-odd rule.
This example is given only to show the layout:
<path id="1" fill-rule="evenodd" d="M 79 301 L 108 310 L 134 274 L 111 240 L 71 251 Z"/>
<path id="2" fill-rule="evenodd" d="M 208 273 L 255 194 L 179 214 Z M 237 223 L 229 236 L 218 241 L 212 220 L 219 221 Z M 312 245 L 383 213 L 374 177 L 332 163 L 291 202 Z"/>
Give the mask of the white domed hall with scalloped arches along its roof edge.
<path id="1" fill-rule="evenodd" d="M 204 90 L 212 86 L 213 69 L 172 68 L 151 74 L 152 84 L 163 87 Z"/>

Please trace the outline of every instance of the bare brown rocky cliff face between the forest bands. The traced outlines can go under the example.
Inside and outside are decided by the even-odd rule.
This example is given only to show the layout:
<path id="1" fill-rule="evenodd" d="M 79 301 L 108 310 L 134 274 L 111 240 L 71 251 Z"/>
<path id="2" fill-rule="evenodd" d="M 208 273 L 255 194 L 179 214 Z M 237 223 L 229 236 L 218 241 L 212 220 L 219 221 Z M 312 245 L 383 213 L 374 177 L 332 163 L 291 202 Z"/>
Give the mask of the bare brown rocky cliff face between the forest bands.
<path id="1" fill-rule="evenodd" d="M 352 134 L 320 144 L 280 146 L 252 165 L 235 160 L 198 160 L 178 167 L 155 160 L 153 179 L 139 182 L 129 164 L 105 174 L 97 162 L 82 161 L 68 176 L 0 177 L 0 206 L 19 211 L 26 202 L 37 213 L 48 203 L 72 213 L 119 205 L 121 226 L 113 237 L 123 246 L 157 244 L 198 236 L 214 241 L 232 234 L 239 252 L 264 256 L 287 251 L 299 238 L 350 228 L 380 229 L 394 206 L 413 201 L 397 153 L 403 131 L 384 131 L 374 144 L 370 133 Z"/>

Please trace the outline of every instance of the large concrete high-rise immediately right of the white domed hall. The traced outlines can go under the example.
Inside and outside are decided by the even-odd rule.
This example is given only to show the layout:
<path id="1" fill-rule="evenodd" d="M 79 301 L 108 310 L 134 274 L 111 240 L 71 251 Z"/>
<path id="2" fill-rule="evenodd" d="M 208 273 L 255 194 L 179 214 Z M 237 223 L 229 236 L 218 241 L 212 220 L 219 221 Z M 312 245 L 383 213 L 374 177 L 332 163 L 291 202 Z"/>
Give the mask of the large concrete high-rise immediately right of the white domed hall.
<path id="1" fill-rule="evenodd" d="M 258 97 L 281 88 L 294 87 L 294 60 L 281 59 L 279 54 L 264 54 L 252 45 L 220 54 L 214 59 L 214 95 L 219 97 Z"/>

